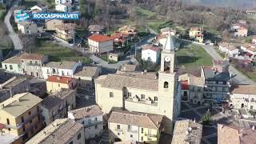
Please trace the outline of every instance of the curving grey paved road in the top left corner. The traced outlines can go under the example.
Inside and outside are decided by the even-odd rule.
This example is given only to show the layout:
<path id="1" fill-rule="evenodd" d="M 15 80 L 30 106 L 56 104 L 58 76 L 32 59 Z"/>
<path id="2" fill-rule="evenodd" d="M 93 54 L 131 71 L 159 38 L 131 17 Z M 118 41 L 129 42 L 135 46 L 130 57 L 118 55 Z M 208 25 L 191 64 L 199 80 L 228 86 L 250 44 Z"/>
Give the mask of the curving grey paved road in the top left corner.
<path id="1" fill-rule="evenodd" d="M 14 32 L 13 27 L 10 25 L 10 16 L 11 16 L 11 14 L 13 14 L 13 11 L 14 11 L 14 7 L 12 6 L 10 8 L 10 10 L 8 10 L 8 13 L 6 14 L 4 22 L 7 26 L 8 31 L 9 31 L 9 37 L 12 40 L 12 42 L 14 43 L 14 49 L 15 50 L 22 50 L 23 49 L 22 41 L 21 41 L 20 38 L 18 38 L 18 34 L 16 34 Z"/>

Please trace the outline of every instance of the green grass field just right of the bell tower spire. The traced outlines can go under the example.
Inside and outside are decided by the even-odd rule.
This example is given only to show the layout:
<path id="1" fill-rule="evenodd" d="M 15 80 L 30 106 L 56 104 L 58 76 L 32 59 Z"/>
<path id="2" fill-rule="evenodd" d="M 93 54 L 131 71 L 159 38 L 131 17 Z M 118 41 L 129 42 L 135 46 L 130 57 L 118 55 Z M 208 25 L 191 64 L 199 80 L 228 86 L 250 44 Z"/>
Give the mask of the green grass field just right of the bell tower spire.
<path id="1" fill-rule="evenodd" d="M 189 45 L 177 51 L 178 65 L 190 67 L 212 66 L 212 58 L 201 46 Z"/>

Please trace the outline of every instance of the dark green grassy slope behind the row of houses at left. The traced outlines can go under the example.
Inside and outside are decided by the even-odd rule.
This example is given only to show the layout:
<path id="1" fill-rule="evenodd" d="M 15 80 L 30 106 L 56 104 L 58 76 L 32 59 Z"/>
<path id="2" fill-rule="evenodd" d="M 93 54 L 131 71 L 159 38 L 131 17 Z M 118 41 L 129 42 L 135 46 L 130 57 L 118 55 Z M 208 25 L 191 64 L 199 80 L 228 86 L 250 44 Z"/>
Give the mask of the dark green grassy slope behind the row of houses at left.
<path id="1" fill-rule="evenodd" d="M 69 48 L 58 46 L 51 42 L 39 42 L 37 50 L 32 51 L 34 54 L 46 54 L 49 56 L 50 61 L 81 61 L 90 62 L 90 58 L 78 56 L 73 50 Z"/>

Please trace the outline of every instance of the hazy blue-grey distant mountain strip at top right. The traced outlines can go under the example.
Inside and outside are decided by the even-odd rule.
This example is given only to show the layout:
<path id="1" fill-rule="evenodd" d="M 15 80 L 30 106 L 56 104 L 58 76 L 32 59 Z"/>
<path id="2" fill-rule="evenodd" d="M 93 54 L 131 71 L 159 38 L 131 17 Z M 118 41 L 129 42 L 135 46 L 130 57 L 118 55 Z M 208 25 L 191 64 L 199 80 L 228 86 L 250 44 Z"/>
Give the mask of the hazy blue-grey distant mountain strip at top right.
<path id="1" fill-rule="evenodd" d="M 182 0 L 186 3 L 206 6 L 230 6 L 235 8 L 256 8 L 256 0 Z"/>

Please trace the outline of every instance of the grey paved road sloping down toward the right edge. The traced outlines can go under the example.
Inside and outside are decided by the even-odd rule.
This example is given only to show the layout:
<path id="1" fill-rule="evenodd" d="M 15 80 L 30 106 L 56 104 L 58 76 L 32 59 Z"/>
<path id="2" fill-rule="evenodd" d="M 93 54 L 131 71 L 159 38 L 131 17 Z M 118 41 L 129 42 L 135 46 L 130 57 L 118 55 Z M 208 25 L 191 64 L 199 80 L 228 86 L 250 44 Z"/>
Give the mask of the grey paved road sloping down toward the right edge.
<path id="1" fill-rule="evenodd" d="M 214 46 L 203 45 L 202 48 L 204 48 L 204 50 L 206 50 L 206 52 L 210 54 L 210 56 L 214 58 L 214 60 L 223 60 L 223 58 L 216 52 L 216 50 L 214 50 Z M 235 75 L 234 81 L 238 82 L 239 84 L 256 84 L 256 82 L 253 82 L 252 80 L 250 80 L 250 78 L 242 75 L 242 73 L 236 70 L 234 66 L 230 66 L 230 73 Z"/>

